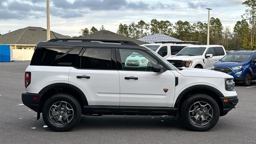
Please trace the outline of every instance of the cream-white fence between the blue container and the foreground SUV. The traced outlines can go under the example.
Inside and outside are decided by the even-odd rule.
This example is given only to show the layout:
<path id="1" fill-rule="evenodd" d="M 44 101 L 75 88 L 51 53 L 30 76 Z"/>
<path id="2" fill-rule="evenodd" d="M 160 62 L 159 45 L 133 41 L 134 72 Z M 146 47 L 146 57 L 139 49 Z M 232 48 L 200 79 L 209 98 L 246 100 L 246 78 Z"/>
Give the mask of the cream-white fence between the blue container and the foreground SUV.
<path id="1" fill-rule="evenodd" d="M 11 60 L 31 60 L 34 50 L 10 49 Z"/>

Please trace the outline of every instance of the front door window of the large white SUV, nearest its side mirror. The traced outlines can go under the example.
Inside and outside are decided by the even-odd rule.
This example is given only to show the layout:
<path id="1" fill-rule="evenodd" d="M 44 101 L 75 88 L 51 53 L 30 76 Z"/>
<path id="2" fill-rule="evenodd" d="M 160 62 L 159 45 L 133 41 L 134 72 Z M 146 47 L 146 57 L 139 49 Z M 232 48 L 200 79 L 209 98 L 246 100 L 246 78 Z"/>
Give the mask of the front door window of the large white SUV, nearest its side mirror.
<path id="1" fill-rule="evenodd" d="M 158 62 L 141 50 L 119 49 L 123 70 L 153 71 Z"/>

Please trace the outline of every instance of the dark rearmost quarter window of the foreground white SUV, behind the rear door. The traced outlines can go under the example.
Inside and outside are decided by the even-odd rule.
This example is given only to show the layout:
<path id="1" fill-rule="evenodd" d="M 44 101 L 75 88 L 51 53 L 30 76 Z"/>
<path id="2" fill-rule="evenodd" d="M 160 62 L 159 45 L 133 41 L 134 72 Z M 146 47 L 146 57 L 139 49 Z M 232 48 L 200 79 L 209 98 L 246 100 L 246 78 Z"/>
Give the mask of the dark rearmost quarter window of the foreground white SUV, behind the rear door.
<path id="1" fill-rule="evenodd" d="M 37 48 L 30 65 L 79 66 L 78 55 L 82 48 Z"/>

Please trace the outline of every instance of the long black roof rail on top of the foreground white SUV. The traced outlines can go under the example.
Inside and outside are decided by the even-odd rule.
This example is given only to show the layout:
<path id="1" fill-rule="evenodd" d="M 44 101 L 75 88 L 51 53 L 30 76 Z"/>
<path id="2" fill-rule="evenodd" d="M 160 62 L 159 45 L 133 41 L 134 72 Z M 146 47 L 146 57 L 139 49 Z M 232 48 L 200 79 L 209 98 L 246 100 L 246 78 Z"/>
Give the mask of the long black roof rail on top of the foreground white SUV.
<path id="1" fill-rule="evenodd" d="M 47 42 L 68 42 L 68 41 L 81 41 L 81 42 L 104 42 L 104 43 L 117 43 L 117 44 L 124 44 L 124 45 L 136 45 L 135 42 L 130 40 L 108 40 L 108 39 L 90 39 L 90 38 L 54 38 L 48 40 Z"/>

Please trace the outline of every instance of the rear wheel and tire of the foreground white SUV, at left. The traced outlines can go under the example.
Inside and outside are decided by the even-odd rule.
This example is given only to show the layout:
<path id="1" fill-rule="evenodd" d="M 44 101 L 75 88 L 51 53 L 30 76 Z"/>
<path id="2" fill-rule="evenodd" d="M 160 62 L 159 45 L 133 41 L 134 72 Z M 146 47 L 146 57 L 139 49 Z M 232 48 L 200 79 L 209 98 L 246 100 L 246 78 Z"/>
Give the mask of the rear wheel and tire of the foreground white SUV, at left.
<path id="1" fill-rule="evenodd" d="M 42 109 L 45 124 L 56 132 L 66 132 L 74 128 L 79 123 L 81 114 L 78 100 L 69 94 L 53 95 L 44 103 Z"/>

